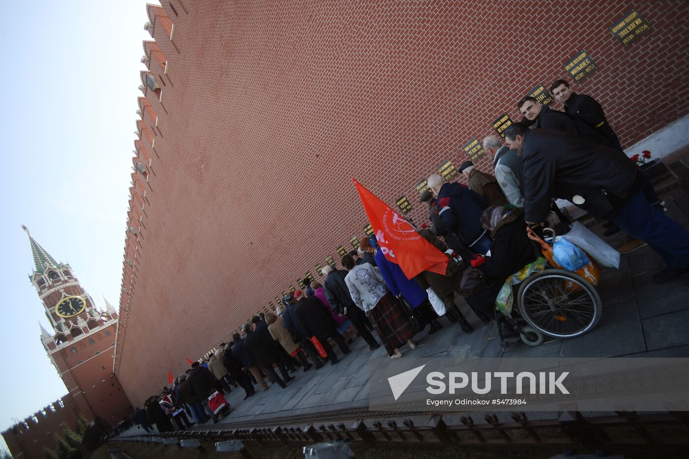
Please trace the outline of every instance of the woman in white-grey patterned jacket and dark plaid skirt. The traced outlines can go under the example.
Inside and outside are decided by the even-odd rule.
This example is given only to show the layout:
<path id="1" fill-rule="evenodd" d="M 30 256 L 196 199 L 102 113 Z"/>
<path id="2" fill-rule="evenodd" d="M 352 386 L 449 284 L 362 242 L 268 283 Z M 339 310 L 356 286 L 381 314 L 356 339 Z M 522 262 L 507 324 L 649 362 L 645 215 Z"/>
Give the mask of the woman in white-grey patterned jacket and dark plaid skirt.
<path id="1" fill-rule="evenodd" d="M 356 265 L 349 255 L 342 257 L 342 267 L 349 273 L 345 283 L 354 303 L 363 309 L 376 326 L 376 332 L 391 358 L 400 358 L 400 346 L 409 344 L 416 349 L 411 340 L 414 328 L 404 306 L 391 294 L 385 285 L 383 276 L 371 263 Z"/>

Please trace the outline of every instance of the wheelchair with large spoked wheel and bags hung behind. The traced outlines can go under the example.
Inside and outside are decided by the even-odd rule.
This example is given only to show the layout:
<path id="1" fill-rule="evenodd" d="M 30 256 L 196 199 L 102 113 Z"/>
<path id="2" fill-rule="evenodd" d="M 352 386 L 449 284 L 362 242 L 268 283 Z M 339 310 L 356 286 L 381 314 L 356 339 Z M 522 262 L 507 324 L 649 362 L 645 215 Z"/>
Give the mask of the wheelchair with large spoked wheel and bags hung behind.
<path id="1" fill-rule="evenodd" d="M 562 269 L 553 259 L 551 243 L 531 228 L 526 231 L 541 246 L 543 258 L 510 276 L 497 295 L 495 320 L 503 348 L 520 338 L 529 346 L 542 344 L 544 335 L 573 338 L 593 329 L 601 318 L 601 299 L 595 289 L 600 270 L 592 258 L 577 272 Z M 552 232 L 551 241 L 555 241 L 555 232 L 546 231 Z M 519 337 L 504 336 L 509 329 Z"/>

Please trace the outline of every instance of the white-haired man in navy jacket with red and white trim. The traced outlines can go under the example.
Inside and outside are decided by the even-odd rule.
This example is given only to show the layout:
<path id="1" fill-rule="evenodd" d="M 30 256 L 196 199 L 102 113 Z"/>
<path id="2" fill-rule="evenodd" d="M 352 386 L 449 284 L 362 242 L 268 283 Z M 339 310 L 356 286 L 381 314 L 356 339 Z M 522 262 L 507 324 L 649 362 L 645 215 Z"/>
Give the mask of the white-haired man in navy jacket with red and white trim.
<path id="1" fill-rule="evenodd" d="M 438 195 L 435 208 L 446 230 L 455 234 L 465 247 L 486 254 L 491 249 L 491 240 L 481 226 L 481 212 L 486 207 L 481 196 L 461 183 L 447 183 L 438 174 L 429 177 L 428 185 Z"/>

